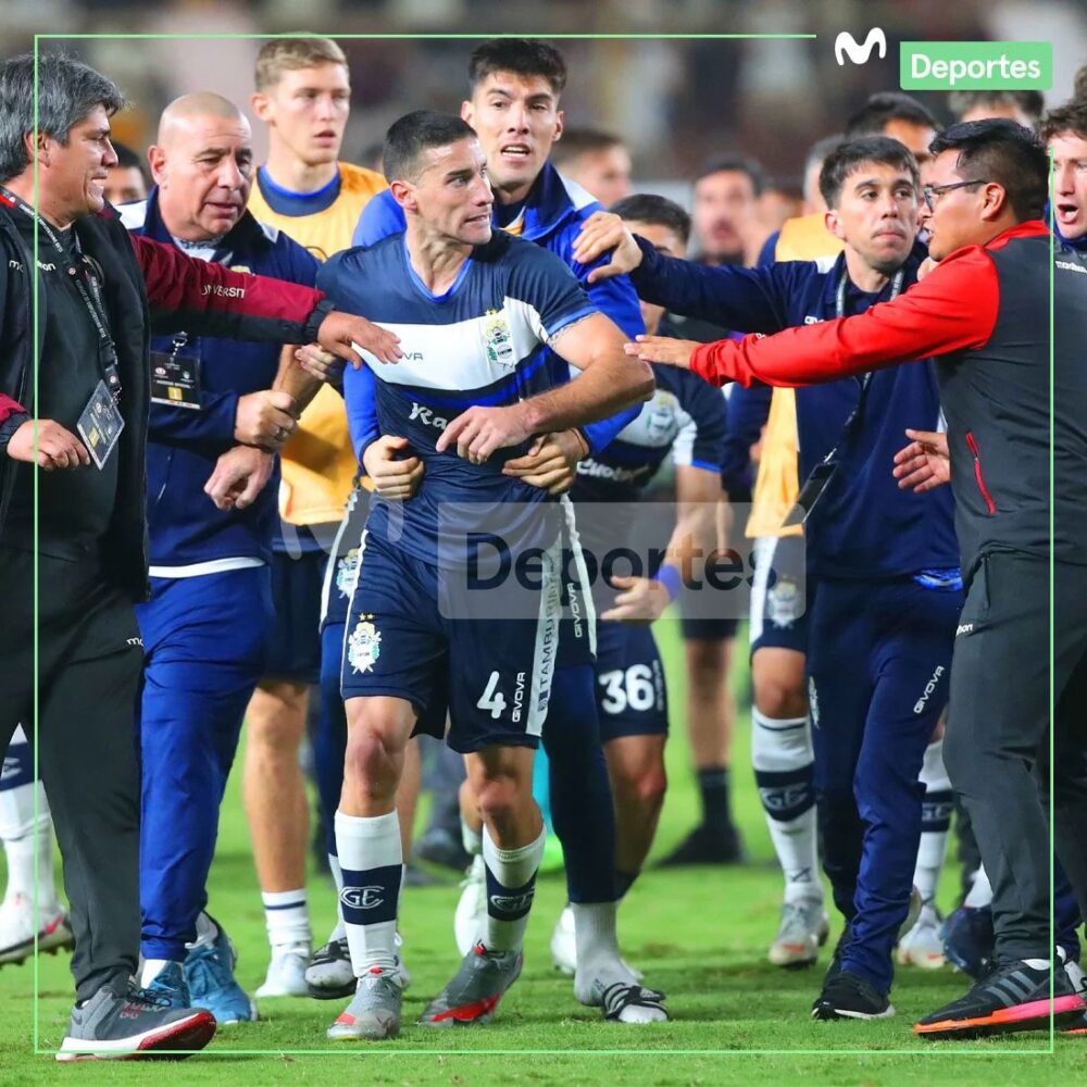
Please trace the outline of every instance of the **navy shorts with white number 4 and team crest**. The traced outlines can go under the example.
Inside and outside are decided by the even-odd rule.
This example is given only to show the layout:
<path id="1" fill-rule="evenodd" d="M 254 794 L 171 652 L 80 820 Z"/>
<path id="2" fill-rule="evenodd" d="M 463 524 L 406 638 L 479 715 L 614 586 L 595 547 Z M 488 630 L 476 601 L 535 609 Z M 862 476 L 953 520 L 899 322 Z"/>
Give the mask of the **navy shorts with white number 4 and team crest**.
<path id="1" fill-rule="evenodd" d="M 439 737 L 436 710 L 448 704 L 446 739 L 461 753 L 538 747 L 558 652 L 559 551 L 557 541 L 544 555 L 534 617 L 471 619 L 455 578 L 366 534 L 345 632 L 345 701 L 405 699 L 420 710 L 416 732 Z"/>

